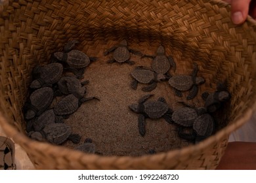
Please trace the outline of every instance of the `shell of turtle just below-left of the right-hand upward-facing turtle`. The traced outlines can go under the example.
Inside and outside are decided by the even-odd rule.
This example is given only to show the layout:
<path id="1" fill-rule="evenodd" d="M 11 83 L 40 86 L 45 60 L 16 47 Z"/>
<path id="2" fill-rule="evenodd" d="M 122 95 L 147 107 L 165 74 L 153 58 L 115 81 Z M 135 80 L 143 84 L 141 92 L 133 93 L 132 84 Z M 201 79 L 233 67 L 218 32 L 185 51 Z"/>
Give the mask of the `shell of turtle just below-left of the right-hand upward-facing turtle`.
<path id="1" fill-rule="evenodd" d="M 135 69 L 131 72 L 131 76 L 142 84 L 148 84 L 154 80 L 154 72 L 146 69 Z"/>

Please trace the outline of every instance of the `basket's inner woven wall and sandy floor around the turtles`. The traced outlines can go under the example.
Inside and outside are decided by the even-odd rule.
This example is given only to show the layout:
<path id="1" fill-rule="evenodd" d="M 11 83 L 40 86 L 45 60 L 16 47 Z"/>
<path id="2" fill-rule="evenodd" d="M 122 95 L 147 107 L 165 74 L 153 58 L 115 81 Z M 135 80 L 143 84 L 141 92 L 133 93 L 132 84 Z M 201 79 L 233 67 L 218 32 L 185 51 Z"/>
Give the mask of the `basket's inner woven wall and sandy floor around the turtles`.
<path id="1" fill-rule="evenodd" d="M 218 82 L 226 81 L 232 98 L 218 114 L 218 130 L 241 118 L 253 105 L 256 98 L 253 29 L 247 27 L 245 35 L 242 32 L 246 27 L 225 22 L 228 15 L 207 10 L 210 5 L 207 3 L 200 7 L 196 1 L 186 4 L 168 1 L 149 10 L 147 3 L 131 2 L 110 6 L 107 1 L 34 1 L 24 5 L 10 1 L 1 16 L 1 110 L 12 118 L 21 133 L 25 133 L 21 108 L 27 99 L 33 67 L 49 63 L 51 54 L 73 39 L 80 41 L 77 50 L 98 58 L 87 67 L 84 79 L 89 80 L 87 96 L 96 96 L 100 101 L 84 103 L 65 123 L 82 135 L 81 143 L 87 137 L 93 139 L 97 151 L 104 156 L 140 156 L 153 148 L 167 152 L 188 145 L 177 137 L 175 126 L 163 119 L 147 119 L 146 135 L 140 137 L 138 116 L 128 105 L 146 93 L 141 91 L 143 84 L 136 91 L 130 89 L 129 73 L 138 65 L 149 67 L 152 60 L 132 55 L 135 61 L 132 66 L 106 63 L 112 54 L 104 56 L 104 50 L 122 39 L 144 54 L 156 54 L 162 44 L 167 56 L 173 56 L 177 64 L 176 72 L 171 70 L 171 75 L 191 73 L 196 62 L 198 76 L 205 78 L 205 84 L 199 86 L 192 101 L 185 99 L 188 92 L 182 98 L 176 97 L 167 82 L 158 83 L 152 99 L 165 97 L 174 110 L 181 107 L 177 101 L 200 107 L 203 105 L 200 94 L 212 92 Z M 129 3 L 131 7 L 125 8 Z M 170 11 L 161 16 L 167 7 Z M 181 7 L 186 7 L 186 11 Z M 193 7 L 192 12 L 189 7 Z M 74 144 L 66 142 L 64 146 L 72 148 Z"/>

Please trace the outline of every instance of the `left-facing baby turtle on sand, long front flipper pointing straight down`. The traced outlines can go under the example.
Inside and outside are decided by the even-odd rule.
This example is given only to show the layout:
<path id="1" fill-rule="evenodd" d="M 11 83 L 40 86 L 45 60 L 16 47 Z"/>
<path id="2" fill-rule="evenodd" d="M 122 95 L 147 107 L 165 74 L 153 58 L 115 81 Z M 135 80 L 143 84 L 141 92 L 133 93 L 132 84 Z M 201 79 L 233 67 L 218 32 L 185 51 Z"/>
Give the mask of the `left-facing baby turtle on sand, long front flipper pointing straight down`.
<path id="1" fill-rule="evenodd" d="M 158 101 L 146 101 L 153 94 L 144 95 L 139 99 L 139 103 L 129 105 L 133 112 L 139 113 L 138 127 L 139 133 L 143 137 L 146 133 L 145 118 L 158 119 L 163 117 L 168 124 L 172 123 L 171 114 L 173 111 L 168 107 L 165 99 L 160 97 Z"/>

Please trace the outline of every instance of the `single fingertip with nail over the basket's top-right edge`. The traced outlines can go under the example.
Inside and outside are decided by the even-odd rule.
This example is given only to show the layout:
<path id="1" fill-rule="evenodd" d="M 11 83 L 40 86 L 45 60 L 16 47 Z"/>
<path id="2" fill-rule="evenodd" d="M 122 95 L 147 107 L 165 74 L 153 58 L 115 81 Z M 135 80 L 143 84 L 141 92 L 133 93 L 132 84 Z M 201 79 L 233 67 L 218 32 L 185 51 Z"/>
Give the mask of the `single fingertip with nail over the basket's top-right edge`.
<path id="1" fill-rule="evenodd" d="M 251 0 L 232 0 L 231 18 L 234 24 L 242 24 L 247 18 L 249 12 L 249 3 Z"/>

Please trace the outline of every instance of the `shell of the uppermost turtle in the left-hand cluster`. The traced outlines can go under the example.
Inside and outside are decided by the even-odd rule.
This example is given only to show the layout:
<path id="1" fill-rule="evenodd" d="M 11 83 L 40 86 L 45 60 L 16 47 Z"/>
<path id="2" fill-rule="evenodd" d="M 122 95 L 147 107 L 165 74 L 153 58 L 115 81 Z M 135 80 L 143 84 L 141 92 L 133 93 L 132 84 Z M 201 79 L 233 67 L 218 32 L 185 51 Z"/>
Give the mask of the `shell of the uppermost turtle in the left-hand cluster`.
<path id="1" fill-rule="evenodd" d="M 87 65 L 90 63 L 90 59 L 85 53 L 79 50 L 71 50 L 68 52 L 68 58 L 66 62 L 70 67 L 80 69 L 87 67 Z"/>

